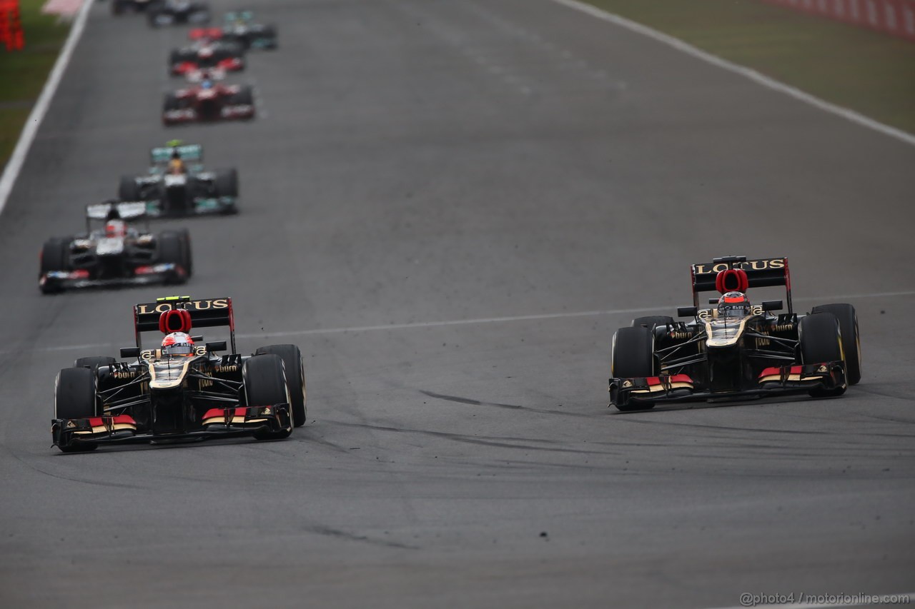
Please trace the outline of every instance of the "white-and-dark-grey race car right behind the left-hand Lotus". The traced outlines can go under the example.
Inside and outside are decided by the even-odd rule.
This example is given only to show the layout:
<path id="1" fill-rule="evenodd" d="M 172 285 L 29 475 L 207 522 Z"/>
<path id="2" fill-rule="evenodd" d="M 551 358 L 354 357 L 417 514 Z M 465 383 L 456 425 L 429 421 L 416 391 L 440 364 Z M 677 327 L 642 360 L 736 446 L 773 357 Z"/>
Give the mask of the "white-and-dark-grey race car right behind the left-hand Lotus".
<path id="1" fill-rule="evenodd" d="M 86 233 L 45 241 L 38 287 L 45 294 L 84 287 L 185 283 L 193 272 L 187 230 L 149 231 L 144 203 L 86 206 Z"/>

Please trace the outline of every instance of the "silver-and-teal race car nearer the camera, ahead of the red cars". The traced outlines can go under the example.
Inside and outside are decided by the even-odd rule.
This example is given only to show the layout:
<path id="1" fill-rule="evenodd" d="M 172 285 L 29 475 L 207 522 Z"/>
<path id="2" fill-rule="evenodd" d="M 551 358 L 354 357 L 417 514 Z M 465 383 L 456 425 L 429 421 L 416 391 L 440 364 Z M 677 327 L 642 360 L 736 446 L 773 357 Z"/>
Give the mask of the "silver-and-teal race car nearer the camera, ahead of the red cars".
<path id="1" fill-rule="evenodd" d="M 203 146 L 173 140 L 149 155 L 145 176 L 121 176 L 122 201 L 143 201 L 151 218 L 238 212 L 238 171 L 204 169 Z"/>

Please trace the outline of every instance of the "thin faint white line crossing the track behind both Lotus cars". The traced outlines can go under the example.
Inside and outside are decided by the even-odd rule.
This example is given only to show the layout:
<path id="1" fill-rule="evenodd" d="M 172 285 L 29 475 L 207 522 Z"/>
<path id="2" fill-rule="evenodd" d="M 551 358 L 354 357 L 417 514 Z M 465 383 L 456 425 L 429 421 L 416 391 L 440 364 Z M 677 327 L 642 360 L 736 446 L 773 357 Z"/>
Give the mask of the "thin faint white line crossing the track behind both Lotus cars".
<path id="1" fill-rule="evenodd" d="M 858 298 L 886 298 L 890 296 L 915 296 L 915 291 L 910 292 L 878 292 L 874 294 L 841 294 L 832 296 L 808 296 L 795 298 L 797 302 L 823 302 L 852 300 Z M 287 332 L 264 332 L 256 334 L 238 334 L 236 338 L 270 338 L 270 337 L 303 337 L 321 334 L 346 334 L 348 332 L 375 332 L 379 330 L 404 330 L 424 327 L 445 327 L 445 326 L 473 326 L 478 324 L 501 324 L 517 321 L 536 321 L 540 319 L 567 319 L 570 317 L 593 317 L 597 315 L 622 315 L 627 313 L 657 313 L 659 311 L 670 311 L 671 306 L 651 306 L 645 308 L 633 309 L 608 309 L 606 311 L 576 311 L 574 313 L 544 313 L 540 315 L 513 315 L 505 317 L 481 317 L 478 319 L 455 319 L 450 321 L 433 321 L 433 322 L 413 322 L 407 324 L 387 324 L 379 326 L 350 326 L 350 327 L 328 327 L 313 328 L 310 330 L 290 330 Z M 34 349 L 13 349 L 0 351 L 0 356 L 11 353 L 23 352 L 49 352 L 49 351 L 78 351 L 81 349 L 92 349 L 96 347 L 113 347 L 114 343 L 90 343 L 86 345 L 67 345 L 60 347 L 38 347 Z"/>

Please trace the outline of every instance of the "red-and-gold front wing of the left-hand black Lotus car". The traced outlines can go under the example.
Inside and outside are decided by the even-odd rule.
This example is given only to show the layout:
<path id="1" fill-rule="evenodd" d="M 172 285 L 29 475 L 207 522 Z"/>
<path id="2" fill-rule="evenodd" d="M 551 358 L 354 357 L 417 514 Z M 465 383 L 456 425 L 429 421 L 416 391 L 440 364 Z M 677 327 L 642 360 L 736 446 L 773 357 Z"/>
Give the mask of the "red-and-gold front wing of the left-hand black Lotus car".
<path id="1" fill-rule="evenodd" d="M 140 429 L 128 414 L 54 419 L 51 421 L 53 444 L 61 450 L 101 444 L 150 443 L 167 440 L 205 440 L 255 433 L 287 430 L 292 422 L 289 404 L 213 408 L 206 412 L 199 427 L 182 433 L 151 433 Z"/>

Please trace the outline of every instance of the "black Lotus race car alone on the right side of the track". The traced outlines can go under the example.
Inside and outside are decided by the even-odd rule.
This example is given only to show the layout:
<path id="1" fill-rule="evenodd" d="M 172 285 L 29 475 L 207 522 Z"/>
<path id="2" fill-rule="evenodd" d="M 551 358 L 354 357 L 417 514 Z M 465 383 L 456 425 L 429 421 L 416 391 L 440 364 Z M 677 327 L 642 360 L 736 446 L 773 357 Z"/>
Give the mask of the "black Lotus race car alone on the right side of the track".
<path id="1" fill-rule="evenodd" d="M 798 315 L 791 304 L 786 258 L 716 258 L 694 264 L 693 306 L 679 317 L 638 317 L 613 336 L 610 405 L 644 410 L 678 401 L 734 400 L 775 394 L 838 396 L 861 379 L 861 348 L 855 307 L 814 306 Z M 780 300 L 747 306 L 739 315 L 724 305 L 700 308 L 699 294 L 746 293 L 785 286 Z M 722 299 L 724 300 L 724 299 Z M 718 304 L 711 299 L 709 304 Z"/>

